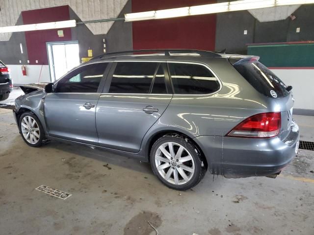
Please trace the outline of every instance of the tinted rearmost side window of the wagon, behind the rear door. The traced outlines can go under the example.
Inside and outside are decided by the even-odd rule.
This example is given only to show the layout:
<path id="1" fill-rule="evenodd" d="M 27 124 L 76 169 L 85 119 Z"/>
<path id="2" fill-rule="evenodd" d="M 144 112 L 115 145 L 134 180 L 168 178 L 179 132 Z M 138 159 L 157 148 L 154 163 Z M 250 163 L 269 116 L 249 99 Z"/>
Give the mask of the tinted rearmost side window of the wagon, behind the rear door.
<path id="1" fill-rule="evenodd" d="M 170 63 L 175 94 L 209 94 L 219 89 L 215 76 L 202 65 Z"/>

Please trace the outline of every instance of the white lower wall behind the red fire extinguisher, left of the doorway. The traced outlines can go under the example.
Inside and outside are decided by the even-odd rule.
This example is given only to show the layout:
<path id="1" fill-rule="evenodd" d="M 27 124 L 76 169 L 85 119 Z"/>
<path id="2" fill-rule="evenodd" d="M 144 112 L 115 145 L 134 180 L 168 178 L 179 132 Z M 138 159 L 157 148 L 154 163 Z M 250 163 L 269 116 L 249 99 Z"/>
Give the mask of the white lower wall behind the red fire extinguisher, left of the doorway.
<path id="1" fill-rule="evenodd" d="M 22 65 L 7 65 L 7 67 L 9 68 L 13 85 L 50 82 L 48 65 L 26 65 L 26 76 L 22 74 Z"/>

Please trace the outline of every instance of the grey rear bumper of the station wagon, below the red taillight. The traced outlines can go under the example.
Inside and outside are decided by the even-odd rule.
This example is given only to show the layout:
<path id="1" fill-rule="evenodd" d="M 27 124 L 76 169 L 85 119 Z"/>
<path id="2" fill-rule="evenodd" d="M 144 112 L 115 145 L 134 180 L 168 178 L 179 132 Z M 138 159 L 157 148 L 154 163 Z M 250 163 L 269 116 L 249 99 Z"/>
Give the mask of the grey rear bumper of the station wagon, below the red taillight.
<path id="1" fill-rule="evenodd" d="M 274 137 L 270 139 L 251 139 L 236 137 L 219 137 L 221 145 L 208 144 L 212 137 L 195 138 L 209 162 L 213 174 L 222 174 L 226 178 L 250 176 L 268 176 L 280 172 L 296 155 L 299 142 L 299 127 L 293 122 L 290 133 L 285 140 Z M 213 156 L 213 153 L 219 153 Z"/>

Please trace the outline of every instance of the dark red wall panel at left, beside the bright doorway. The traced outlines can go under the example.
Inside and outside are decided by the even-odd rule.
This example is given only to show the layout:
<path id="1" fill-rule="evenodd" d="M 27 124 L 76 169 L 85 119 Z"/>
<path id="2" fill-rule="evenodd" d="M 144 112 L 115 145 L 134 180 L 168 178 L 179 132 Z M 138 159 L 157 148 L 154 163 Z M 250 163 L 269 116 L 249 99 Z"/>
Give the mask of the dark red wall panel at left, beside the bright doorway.
<path id="1" fill-rule="evenodd" d="M 24 24 L 37 24 L 70 20 L 69 6 L 58 6 L 22 12 Z M 25 32 L 30 65 L 48 65 L 46 42 L 71 41 L 71 28 L 61 28 L 64 37 L 58 37 L 58 29 Z M 60 29 L 59 29 L 60 30 Z M 35 61 L 38 60 L 38 64 Z"/>

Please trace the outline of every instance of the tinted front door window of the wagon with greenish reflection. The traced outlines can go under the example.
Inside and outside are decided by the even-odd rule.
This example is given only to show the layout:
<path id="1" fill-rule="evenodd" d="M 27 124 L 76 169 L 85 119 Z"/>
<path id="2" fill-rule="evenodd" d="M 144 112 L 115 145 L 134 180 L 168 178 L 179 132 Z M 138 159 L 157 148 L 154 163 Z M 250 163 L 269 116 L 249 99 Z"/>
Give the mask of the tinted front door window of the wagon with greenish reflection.
<path id="1" fill-rule="evenodd" d="M 62 78 L 56 88 L 59 93 L 95 93 L 108 63 L 86 65 Z"/>

